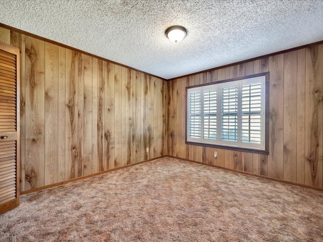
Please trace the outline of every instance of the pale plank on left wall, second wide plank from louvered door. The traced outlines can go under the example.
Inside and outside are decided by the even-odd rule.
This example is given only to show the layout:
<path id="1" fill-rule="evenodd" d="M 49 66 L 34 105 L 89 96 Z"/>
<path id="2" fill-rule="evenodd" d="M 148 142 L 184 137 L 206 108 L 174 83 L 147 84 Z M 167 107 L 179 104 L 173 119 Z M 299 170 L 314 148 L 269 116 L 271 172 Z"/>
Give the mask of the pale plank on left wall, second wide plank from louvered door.
<path id="1" fill-rule="evenodd" d="M 59 48 L 45 43 L 45 185 L 58 182 Z"/>

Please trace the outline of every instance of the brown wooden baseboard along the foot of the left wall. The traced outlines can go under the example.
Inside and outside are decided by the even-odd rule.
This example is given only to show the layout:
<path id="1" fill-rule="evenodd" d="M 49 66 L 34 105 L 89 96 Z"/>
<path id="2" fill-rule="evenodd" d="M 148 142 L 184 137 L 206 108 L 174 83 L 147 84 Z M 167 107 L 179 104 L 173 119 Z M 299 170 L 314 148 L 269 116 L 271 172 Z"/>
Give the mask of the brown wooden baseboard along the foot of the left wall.
<path id="1" fill-rule="evenodd" d="M 71 183 L 72 181 L 85 179 L 85 178 L 88 178 L 88 177 L 108 173 L 108 172 L 115 171 L 115 170 L 120 170 L 120 169 L 127 168 L 127 167 L 130 167 L 130 166 L 138 165 L 138 164 L 141 164 L 141 163 L 144 163 L 144 162 L 147 162 L 147 161 L 163 158 L 165 156 L 166 155 L 163 155 L 163 156 L 159 156 L 159 157 L 156 157 L 156 158 L 143 160 L 143 161 L 140 161 L 140 162 L 137 162 L 137 163 L 133 163 L 133 164 L 125 165 L 125 166 L 120 166 L 120 167 L 109 169 L 109 170 L 103 170 L 103 171 L 96 172 L 96 173 L 93 173 L 93 174 L 90 174 L 90 175 L 83 175 L 83 176 L 75 177 L 75 178 L 72 178 L 72 179 L 60 181 L 59 183 L 53 183 L 53 184 L 42 186 L 42 187 L 39 187 L 39 188 L 34 188 L 34 189 L 27 190 L 27 191 L 22 191 L 22 192 L 20 192 L 20 195 L 25 195 L 25 194 L 34 193 L 34 192 L 37 192 L 37 191 L 40 191 L 40 190 L 43 190 L 43 189 L 61 186 L 61 185 L 67 184 L 67 183 Z"/>

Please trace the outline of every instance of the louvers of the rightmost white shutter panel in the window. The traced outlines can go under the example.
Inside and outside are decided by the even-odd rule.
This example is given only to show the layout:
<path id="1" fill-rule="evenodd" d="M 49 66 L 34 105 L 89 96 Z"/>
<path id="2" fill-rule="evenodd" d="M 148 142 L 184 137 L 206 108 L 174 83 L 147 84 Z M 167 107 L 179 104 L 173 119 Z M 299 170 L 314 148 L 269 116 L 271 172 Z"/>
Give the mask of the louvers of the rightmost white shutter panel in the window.
<path id="1" fill-rule="evenodd" d="M 242 142 L 260 144 L 261 84 L 242 86 Z"/>

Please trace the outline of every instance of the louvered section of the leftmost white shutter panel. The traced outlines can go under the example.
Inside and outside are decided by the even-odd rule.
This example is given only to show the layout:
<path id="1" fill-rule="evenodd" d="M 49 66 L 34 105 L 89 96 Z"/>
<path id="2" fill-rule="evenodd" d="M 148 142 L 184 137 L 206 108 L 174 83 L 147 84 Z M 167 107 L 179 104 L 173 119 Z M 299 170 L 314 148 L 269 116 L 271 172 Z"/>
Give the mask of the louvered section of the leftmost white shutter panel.
<path id="1" fill-rule="evenodd" d="M 201 92 L 189 93 L 189 137 L 201 137 Z"/>

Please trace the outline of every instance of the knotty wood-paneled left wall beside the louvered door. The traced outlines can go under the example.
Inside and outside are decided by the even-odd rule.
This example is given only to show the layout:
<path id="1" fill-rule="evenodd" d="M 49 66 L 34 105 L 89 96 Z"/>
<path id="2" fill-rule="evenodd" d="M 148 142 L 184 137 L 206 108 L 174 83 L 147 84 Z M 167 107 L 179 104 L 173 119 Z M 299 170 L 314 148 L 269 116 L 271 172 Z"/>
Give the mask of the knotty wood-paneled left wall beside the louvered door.
<path id="1" fill-rule="evenodd" d="M 21 51 L 21 191 L 168 155 L 167 81 L 6 28 L 0 36 Z"/>

